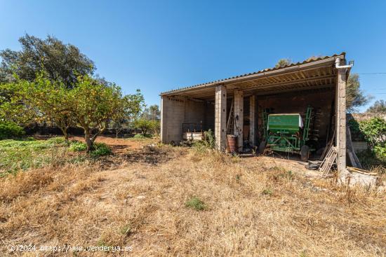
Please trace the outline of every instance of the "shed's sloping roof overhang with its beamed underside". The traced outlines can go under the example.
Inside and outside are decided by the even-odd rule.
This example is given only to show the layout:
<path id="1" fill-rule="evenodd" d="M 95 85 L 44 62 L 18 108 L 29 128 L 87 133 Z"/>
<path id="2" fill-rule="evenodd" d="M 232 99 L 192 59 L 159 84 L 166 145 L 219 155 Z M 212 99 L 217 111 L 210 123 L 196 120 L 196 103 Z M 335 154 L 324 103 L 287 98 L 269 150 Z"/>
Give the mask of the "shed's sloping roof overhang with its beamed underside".
<path id="1" fill-rule="evenodd" d="M 295 90 L 333 88 L 336 80 L 335 60 L 345 59 L 345 53 L 329 57 L 306 60 L 286 67 L 265 69 L 253 74 L 244 74 L 220 81 L 213 81 L 188 88 L 171 90 L 161 96 L 192 97 L 213 100 L 215 87 L 225 85 L 227 94 L 234 90 L 243 90 L 247 95 L 271 95 Z"/>

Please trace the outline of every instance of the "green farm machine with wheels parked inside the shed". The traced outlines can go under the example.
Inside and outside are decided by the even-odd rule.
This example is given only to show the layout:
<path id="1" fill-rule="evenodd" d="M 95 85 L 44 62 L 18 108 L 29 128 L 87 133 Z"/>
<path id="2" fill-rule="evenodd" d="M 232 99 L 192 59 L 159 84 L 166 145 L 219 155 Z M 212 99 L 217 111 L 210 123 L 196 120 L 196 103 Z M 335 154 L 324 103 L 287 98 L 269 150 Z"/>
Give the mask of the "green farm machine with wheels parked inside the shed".
<path id="1" fill-rule="evenodd" d="M 303 161 L 307 161 L 310 151 L 315 149 L 309 144 L 312 107 L 308 106 L 303 123 L 300 113 L 272 113 L 267 110 L 262 113 L 264 127 L 263 140 L 259 151 L 298 153 Z"/>

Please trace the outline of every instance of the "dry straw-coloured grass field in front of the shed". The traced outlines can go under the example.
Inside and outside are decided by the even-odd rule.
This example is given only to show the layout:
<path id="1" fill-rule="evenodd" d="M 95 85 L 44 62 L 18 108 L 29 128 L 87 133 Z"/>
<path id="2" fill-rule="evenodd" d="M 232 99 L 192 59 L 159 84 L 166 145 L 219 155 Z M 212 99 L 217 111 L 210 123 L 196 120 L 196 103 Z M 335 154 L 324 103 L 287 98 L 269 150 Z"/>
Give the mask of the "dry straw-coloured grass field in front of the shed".
<path id="1" fill-rule="evenodd" d="M 385 192 L 191 148 L 64 156 L 0 179 L 1 256 L 386 254 Z M 8 251 L 17 244 L 132 251 Z"/>

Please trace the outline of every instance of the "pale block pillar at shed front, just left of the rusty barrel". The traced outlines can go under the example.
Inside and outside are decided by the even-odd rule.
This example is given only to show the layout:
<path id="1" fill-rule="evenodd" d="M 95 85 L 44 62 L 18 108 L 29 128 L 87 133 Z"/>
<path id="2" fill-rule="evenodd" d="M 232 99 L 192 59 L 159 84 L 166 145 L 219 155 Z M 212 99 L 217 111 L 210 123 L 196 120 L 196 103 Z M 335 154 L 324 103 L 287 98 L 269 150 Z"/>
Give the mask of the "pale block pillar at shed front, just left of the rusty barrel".
<path id="1" fill-rule="evenodd" d="M 227 148 L 227 88 L 215 87 L 215 148 L 225 151 Z"/>

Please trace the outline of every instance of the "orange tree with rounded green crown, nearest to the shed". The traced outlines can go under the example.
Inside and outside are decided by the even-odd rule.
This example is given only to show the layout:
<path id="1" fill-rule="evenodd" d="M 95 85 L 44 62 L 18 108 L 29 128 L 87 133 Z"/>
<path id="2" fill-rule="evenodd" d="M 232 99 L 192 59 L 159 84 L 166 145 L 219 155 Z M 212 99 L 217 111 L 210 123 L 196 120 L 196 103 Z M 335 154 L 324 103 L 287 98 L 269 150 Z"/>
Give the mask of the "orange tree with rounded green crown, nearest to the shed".
<path id="1" fill-rule="evenodd" d="M 79 127 L 84 129 L 87 151 L 93 150 L 95 139 L 112 121 L 131 118 L 139 113 L 143 96 L 122 94 L 114 83 L 101 83 L 90 76 L 79 76 L 72 90 L 67 90 L 69 109 Z"/>

